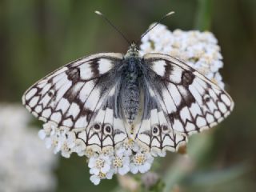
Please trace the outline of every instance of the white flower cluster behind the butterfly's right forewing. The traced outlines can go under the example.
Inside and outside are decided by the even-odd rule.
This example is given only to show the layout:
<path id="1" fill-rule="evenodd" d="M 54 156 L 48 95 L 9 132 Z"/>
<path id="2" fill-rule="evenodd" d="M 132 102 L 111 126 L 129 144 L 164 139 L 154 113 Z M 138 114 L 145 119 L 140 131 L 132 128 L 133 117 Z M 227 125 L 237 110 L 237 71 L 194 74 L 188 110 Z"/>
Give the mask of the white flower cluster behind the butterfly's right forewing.
<path id="1" fill-rule="evenodd" d="M 140 49 L 142 55 L 161 53 L 178 58 L 224 88 L 222 76 L 218 72 L 223 66 L 222 54 L 217 39 L 210 32 L 171 32 L 166 26 L 158 24 L 142 38 Z"/>

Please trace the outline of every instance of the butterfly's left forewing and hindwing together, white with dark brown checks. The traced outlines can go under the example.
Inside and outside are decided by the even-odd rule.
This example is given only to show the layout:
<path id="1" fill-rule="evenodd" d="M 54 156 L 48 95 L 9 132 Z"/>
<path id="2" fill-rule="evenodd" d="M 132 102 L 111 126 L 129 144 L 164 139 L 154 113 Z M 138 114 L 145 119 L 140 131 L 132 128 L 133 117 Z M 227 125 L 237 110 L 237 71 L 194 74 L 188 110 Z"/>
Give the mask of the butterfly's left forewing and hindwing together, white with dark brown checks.
<path id="1" fill-rule="evenodd" d="M 22 102 L 43 122 L 78 130 L 76 135 L 86 146 L 98 150 L 114 146 L 126 138 L 122 120 L 110 102 L 118 83 L 112 73 L 122 59 L 122 54 L 114 53 L 80 58 L 36 82 Z"/>

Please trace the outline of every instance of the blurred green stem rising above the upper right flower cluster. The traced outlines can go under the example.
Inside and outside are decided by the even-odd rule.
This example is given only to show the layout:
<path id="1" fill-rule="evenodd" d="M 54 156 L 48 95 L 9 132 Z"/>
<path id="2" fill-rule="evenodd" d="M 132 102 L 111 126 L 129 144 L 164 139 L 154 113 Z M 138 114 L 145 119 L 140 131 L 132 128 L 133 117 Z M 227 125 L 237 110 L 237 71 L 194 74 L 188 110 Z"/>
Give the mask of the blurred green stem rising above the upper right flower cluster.
<path id="1" fill-rule="evenodd" d="M 198 13 L 195 17 L 195 29 L 210 30 L 213 0 L 198 0 Z"/>

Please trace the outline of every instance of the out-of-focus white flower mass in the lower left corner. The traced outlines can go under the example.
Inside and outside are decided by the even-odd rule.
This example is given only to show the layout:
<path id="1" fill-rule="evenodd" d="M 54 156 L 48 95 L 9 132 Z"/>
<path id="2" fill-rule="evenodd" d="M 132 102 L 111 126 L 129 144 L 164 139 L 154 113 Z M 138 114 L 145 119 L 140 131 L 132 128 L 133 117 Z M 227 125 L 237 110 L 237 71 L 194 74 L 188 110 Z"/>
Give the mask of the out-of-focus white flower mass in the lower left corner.
<path id="1" fill-rule="evenodd" d="M 38 141 L 22 106 L 0 105 L 0 191 L 52 191 L 57 157 Z"/>

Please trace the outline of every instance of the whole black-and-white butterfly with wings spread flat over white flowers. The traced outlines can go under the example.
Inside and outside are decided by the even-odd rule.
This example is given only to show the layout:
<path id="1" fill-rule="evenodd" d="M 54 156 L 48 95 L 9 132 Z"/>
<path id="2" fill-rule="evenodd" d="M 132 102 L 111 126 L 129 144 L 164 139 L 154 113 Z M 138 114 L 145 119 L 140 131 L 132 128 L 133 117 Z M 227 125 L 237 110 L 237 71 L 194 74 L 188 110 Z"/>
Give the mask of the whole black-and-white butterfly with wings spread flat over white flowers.
<path id="1" fill-rule="evenodd" d="M 97 150 L 131 139 L 148 150 L 175 151 L 234 107 L 194 68 L 167 54 L 140 57 L 134 42 L 126 54 L 92 54 L 62 66 L 26 90 L 22 102 Z"/>

